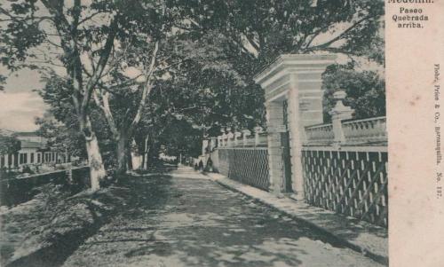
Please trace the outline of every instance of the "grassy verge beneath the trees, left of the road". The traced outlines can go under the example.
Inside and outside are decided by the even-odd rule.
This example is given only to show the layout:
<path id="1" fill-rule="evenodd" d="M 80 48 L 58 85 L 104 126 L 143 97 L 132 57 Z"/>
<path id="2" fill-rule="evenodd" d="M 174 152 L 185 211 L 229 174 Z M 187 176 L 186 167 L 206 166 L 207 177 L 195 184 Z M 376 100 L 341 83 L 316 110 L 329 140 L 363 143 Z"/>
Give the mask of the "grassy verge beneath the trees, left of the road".
<path id="1" fill-rule="evenodd" d="M 58 266 L 125 206 L 128 190 L 114 185 L 73 195 L 66 186 L 50 184 L 39 187 L 28 202 L 2 207 L 1 265 Z"/>

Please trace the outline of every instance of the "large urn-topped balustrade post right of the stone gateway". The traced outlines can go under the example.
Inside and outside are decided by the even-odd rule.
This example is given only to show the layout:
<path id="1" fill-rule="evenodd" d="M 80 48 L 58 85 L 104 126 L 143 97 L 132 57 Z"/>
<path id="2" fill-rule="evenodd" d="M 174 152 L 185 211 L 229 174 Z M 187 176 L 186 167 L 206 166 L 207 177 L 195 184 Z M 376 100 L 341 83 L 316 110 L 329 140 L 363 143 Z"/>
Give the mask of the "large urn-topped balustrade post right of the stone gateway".
<path id="1" fill-rule="evenodd" d="M 331 109 L 331 125 L 333 126 L 333 134 L 335 135 L 333 146 L 338 148 L 345 142 L 344 130 L 342 129 L 342 121 L 353 118 L 354 110 L 350 106 L 344 106 L 343 100 L 347 97 L 344 90 L 337 90 L 333 93 L 333 98 L 337 101 L 336 106 Z"/>

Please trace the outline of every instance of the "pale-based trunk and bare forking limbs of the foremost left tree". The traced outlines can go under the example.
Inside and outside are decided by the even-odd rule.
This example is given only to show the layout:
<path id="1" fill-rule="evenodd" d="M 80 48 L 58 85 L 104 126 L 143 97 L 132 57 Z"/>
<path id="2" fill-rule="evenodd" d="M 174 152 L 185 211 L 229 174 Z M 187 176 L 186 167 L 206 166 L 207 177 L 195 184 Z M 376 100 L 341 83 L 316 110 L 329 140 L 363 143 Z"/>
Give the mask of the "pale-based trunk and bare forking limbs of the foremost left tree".
<path id="1" fill-rule="evenodd" d="M 60 47 L 64 51 L 64 65 L 67 74 L 72 79 L 73 91 L 71 97 L 75 106 L 75 114 L 78 116 L 80 130 L 85 138 L 85 146 L 90 164 L 91 189 L 100 188 L 100 180 L 106 176 L 102 157 L 99 149 L 99 141 L 92 130 L 90 117 L 88 116 L 88 107 L 90 106 L 91 93 L 107 65 L 109 54 L 114 46 L 115 35 L 117 34 L 118 20 L 115 18 L 109 24 L 109 31 L 106 42 L 100 52 L 99 60 L 90 75 L 88 82 L 83 82 L 83 62 L 80 57 L 80 51 L 77 47 L 77 37 L 79 32 L 77 27 L 81 23 L 80 15 L 82 3 L 80 0 L 74 1 L 73 20 L 69 21 L 63 13 L 63 1 L 41 1 L 52 17 L 50 20 L 54 23 L 57 33 L 60 37 Z M 61 5 L 60 5 L 61 4 Z"/>

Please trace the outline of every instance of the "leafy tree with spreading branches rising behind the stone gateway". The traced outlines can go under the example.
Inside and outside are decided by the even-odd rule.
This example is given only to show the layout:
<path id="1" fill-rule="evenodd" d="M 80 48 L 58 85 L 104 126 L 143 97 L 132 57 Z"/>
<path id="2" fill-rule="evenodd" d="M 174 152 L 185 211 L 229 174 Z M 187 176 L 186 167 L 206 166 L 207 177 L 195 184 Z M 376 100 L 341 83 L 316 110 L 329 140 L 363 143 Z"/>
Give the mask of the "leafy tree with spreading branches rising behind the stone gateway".
<path id="1" fill-rule="evenodd" d="M 333 52 L 351 61 L 368 59 L 384 64 L 382 0 L 174 2 L 186 17 L 177 27 L 193 33 L 196 39 L 218 33 L 214 42 L 219 43 L 221 54 L 242 76 L 247 84 L 242 91 L 252 99 L 262 99 L 264 95 L 252 77 L 282 53 Z M 251 104 L 256 106 L 255 116 L 263 123 L 262 103 Z"/>

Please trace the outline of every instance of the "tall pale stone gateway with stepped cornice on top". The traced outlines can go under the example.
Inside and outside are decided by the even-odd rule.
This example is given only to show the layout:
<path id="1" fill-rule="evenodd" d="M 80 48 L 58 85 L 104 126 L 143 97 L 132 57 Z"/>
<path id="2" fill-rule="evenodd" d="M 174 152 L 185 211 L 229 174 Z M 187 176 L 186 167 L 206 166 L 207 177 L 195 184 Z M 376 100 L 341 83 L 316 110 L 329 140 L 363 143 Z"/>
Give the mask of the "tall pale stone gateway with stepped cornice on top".
<path id="1" fill-rule="evenodd" d="M 304 199 L 302 169 L 302 146 L 305 140 L 305 126 L 323 122 L 321 75 L 326 67 L 334 63 L 335 55 L 281 55 L 270 66 L 255 76 L 254 80 L 266 93 L 268 150 L 274 157 L 270 164 L 271 180 L 283 177 L 281 164 L 277 163 L 277 149 L 281 139 L 276 132 L 286 130 L 283 126 L 282 103 L 288 101 L 288 130 L 291 156 L 291 187 L 297 200 Z M 279 111 L 281 109 L 281 111 Z M 278 122 L 281 120 L 281 123 Z M 275 155 L 276 156 L 273 156 Z M 282 188 L 274 185 L 274 190 Z"/>

